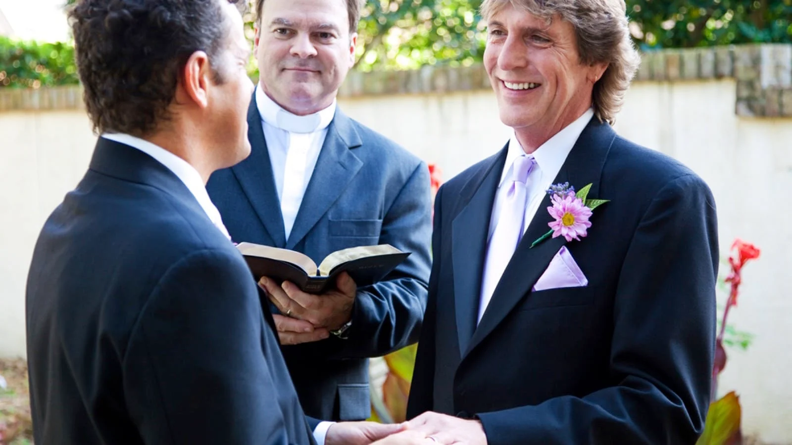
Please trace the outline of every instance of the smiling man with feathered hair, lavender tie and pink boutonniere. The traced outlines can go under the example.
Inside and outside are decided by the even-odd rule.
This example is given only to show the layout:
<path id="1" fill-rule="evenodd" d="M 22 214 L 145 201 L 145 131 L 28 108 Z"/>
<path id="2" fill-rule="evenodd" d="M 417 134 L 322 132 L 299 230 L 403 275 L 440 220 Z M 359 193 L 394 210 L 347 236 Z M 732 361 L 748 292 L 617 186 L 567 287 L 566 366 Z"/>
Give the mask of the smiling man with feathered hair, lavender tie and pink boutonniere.
<path id="1" fill-rule="evenodd" d="M 693 444 L 714 358 L 714 200 L 611 128 L 639 61 L 625 4 L 485 0 L 482 17 L 514 136 L 436 196 L 410 423 L 440 443 Z M 585 202 L 569 193 L 588 184 Z"/>

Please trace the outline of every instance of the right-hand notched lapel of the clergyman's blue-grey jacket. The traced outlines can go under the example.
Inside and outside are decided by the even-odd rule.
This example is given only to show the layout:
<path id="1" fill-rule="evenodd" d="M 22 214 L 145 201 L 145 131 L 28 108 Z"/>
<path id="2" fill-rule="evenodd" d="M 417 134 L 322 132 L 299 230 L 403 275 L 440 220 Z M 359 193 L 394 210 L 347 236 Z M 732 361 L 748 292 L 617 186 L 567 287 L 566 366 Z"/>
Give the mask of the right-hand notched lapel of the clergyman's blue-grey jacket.
<path id="1" fill-rule="evenodd" d="M 287 249 L 294 249 L 305 238 L 363 166 L 363 162 L 349 150 L 361 144 L 352 120 L 336 108 L 336 116 L 327 128 L 325 143 L 291 228 Z"/>

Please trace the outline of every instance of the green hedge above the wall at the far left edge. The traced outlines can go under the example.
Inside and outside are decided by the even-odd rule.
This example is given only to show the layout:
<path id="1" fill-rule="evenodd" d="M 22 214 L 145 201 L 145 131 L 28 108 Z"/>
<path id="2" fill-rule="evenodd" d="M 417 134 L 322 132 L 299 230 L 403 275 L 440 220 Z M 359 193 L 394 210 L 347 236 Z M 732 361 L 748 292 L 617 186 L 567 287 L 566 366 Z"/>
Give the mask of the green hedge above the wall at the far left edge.
<path id="1" fill-rule="evenodd" d="M 0 36 L 0 87 L 40 88 L 77 84 L 74 47 Z"/>

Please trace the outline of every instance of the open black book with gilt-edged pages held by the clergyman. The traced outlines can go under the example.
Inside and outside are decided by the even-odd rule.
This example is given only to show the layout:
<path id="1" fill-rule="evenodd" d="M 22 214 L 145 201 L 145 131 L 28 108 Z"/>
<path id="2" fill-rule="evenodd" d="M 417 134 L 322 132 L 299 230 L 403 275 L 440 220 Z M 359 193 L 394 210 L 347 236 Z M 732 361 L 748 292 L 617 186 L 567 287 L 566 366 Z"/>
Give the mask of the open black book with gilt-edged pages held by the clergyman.
<path id="1" fill-rule="evenodd" d="M 278 283 L 291 281 L 309 294 L 322 294 L 336 286 L 336 277 L 346 271 L 358 286 L 382 280 L 409 256 L 390 244 L 361 245 L 330 253 L 318 266 L 307 255 L 294 250 L 241 242 L 237 249 L 256 280 L 267 276 Z"/>

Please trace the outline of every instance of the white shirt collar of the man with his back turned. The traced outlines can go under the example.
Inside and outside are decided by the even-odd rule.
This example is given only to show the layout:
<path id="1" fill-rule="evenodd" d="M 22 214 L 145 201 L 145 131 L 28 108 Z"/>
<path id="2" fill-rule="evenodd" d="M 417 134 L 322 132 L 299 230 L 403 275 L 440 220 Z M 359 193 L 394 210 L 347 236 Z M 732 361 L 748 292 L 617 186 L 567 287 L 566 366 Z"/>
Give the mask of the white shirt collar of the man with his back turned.
<path id="1" fill-rule="evenodd" d="M 217 229 L 226 236 L 226 238 L 229 240 L 231 239 L 230 235 L 228 234 L 228 230 L 226 230 L 226 226 L 223 224 L 223 218 L 220 217 L 220 211 L 217 210 L 215 204 L 209 199 L 209 194 L 206 191 L 206 184 L 204 184 L 204 180 L 201 179 L 200 173 L 198 173 L 198 170 L 196 170 L 195 167 L 190 165 L 184 159 L 179 158 L 177 155 L 165 150 L 161 146 L 154 145 L 153 143 L 136 138 L 132 135 L 125 135 L 122 133 L 106 133 L 101 135 L 101 137 L 111 141 L 116 141 L 117 143 L 123 143 L 143 151 L 143 153 L 148 154 L 160 164 L 165 165 L 167 169 L 173 172 L 173 174 L 175 174 L 179 180 L 181 180 L 181 182 L 187 186 L 188 190 L 192 193 L 192 196 L 195 196 L 195 199 L 200 204 L 200 207 L 204 209 L 204 212 L 206 212 L 206 215 L 209 217 L 211 223 L 214 224 L 215 227 L 217 227 Z"/>

